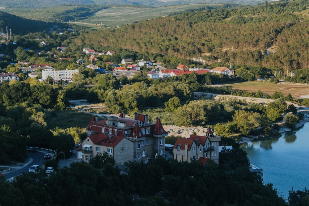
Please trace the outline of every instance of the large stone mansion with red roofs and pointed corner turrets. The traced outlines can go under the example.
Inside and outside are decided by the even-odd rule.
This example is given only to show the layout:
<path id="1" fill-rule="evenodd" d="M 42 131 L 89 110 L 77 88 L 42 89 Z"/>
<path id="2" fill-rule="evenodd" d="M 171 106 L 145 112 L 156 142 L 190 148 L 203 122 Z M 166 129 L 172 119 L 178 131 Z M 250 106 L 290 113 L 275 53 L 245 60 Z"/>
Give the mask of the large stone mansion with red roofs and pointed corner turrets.
<path id="1" fill-rule="evenodd" d="M 100 121 L 93 116 L 86 134 L 87 138 L 77 149 L 77 159 L 84 161 L 104 151 L 112 155 L 117 164 L 140 160 L 143 154 L 148 157 L 165 154 L 167 132 L 159 118 L 152 123 L 148 115 L 135 113 L 134 119 L 128 119 L 121 112 L 119 117 L 110 116 Z"/>

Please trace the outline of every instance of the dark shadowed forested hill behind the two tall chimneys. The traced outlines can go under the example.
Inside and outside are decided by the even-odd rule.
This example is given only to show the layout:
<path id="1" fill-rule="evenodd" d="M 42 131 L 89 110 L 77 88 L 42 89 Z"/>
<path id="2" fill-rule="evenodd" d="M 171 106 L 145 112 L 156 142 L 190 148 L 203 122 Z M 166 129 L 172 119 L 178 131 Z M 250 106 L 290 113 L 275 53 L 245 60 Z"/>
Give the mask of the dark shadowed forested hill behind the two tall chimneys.
<path id="1" fill-rule="evenodd" d="M 0 31 L 6 34 L 6 27 L 12 30 L 14 35 L 25 35 L 43 30 L 48 30 L 49 24 L 42 21 L 23 19 L 0 11 Z"/>

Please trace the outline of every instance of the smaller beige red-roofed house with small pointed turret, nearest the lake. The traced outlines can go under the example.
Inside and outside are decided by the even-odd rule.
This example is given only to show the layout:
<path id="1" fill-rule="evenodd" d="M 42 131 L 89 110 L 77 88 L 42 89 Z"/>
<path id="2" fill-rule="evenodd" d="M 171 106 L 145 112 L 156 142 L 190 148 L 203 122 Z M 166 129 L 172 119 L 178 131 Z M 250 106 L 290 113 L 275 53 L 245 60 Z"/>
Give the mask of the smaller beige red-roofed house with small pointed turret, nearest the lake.
<path id="1" fill-rule="evenodd" d="M 174 144 L 174 159 L 180 162 L 191 162 L 202 158 L 209 158 L 219 163 L 219 141 L 221 137 L 215 135 L 210 128 L 206 136 L 191 135 L 187 139 L 177 138 Z"/>

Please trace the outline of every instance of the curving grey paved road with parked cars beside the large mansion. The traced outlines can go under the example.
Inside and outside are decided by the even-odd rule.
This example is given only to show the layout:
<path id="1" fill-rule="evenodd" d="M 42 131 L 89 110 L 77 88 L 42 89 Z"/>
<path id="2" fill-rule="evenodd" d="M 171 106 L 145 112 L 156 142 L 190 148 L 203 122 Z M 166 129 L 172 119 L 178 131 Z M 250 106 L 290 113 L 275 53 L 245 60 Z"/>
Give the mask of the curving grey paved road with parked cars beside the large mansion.
<path id="1" fill-rule="evenodd" d="M 29 167 L 31 167 L 32 165 L 42 166 L 44 162 L 48 161 L 48 159 L 43 159 L 44 154 L 46 154 L 46 152 L 42 152 L 39 150 L 35 153 L 28 152 L 28 157 L 31 158 L 31 161 L 25 164 L 20 169 L 16 169 L 13 170 L 12 172 L 5 173 L 5 178 L 10 179 L 12 177 L 16 177 L 18 175 L 23 174 L 23 172 L 28 172 Z"/>

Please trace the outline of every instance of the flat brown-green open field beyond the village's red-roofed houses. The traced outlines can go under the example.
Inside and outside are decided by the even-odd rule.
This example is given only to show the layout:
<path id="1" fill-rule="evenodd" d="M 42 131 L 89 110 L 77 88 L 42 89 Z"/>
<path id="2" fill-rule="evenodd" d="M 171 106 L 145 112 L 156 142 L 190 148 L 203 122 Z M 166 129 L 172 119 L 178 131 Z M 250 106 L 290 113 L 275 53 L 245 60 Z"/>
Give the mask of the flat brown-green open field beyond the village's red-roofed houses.
<path id="1" fill-rule="evenodd" d="M 264 95 L 272 95 L 275 91 L 280 91 L 284 96 L 289 93 L 295 99 L 303 99 L 309 97 L 309 85 L 304 84 L 293 84 L 293 83 L 280 83 L 280 84 L 269 84 L 259 81 L 243 82 L 236 84 L 225 84 L 220 86 L 232 87 L 233 90 L 244 90 L 249 92 L 257 92 L 261 90 Z"/>

